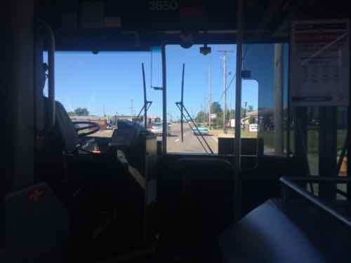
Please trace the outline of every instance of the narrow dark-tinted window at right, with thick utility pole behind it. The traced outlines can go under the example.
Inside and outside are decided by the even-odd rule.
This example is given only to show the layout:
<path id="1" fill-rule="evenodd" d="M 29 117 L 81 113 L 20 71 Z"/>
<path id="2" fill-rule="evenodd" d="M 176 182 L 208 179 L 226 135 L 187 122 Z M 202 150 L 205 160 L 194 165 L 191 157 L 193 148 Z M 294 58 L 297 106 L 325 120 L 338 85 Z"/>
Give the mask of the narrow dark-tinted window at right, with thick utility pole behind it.
<path id="1" fill-rule="evenodd" d="M 258 83 L 257 108 L 249 109 L 245 86 L 242 86 L 244 111 L 247 122 L 258 125 L 257 136 L 263 143 L 263 154 L 287 156 L 291 150 L 291 126 L 288 105 L 289 46 L 286 43 L 246 44 L 243 51 L 243 69 Z M 251 112 L 249 112 L 251 111 Z M 251 130 L 256 127 L 251 126 Z M 243 133 L 245 137 L 246 131 Z M 288 149 L 289 148 L 289 149 Z"/>

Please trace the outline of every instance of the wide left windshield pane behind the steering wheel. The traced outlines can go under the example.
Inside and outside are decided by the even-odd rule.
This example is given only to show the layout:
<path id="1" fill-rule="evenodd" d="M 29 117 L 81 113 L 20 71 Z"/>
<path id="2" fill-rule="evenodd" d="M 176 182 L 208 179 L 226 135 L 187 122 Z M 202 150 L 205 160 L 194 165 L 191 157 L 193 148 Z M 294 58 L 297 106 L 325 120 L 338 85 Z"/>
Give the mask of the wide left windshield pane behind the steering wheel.
<path id="1" fill-rule="evenodd" d="M 153 57 L 153 58 L 152 58 Z M 47 54 L 44 53 L 47 62 Z M 55 100 L 61 102 L 72 121 L 92 121 L 100 125 L 93 137 L 111 137 L 117 120 L 144 125 L 143 71 L 148 109 L 147 128 L 161 121 L 159 90 L 161 68 L 157 52 L 56 52 Z M 153 83 L 151 83 L 151 81 Z M 46 83 L 47 86 L 47 83 Z M 44 88 L 46 95 L 47 88 Z M 141 113 L 140 113 L 141 112 Z M 83 130 L 85 132 L 85 130 Z"/>

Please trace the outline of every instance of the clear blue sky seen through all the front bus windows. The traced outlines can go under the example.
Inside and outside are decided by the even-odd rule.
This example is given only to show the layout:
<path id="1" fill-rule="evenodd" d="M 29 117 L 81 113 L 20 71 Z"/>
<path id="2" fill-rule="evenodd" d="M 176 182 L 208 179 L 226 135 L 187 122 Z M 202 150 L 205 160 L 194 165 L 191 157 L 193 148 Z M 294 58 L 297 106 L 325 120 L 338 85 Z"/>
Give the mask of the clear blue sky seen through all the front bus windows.
<path id="1" fill-rule="evenodd" d="M 236 46 L 211 45 L 212 53 L 201 55 L 199 46 L 184 49 L 178 45 L 166 46 L 168 117 L 178 118 L 175 102 L 180 100 L 182 65 L 185 63 L 185 106 L 191 114 L 204 109 L 208 100 L 208 67 L 211 67 L 213 101 L 223 93 L 223 54 L 218 50 L 233 50 L 227 55 L 227 83 L 235 73 Z M 253 70 L 257 81 L 243 83 L 242 105 L 272 104 L 272 96 L 258 97 L 258 88 L 272 90 L 272 45 L 253 45 L 246 54 L 246 66 Z M 91 114 L 138 114 L 143 107 L 143 78 L 141 63 L 145 63 L 147 100 L 152 100 L 150 115 L 161 116 L 161 90 L 150 88 L 152 57 L 152 86 L 161 86 L 161 53 L 154 52 L 56 52 L 56 100 L 67 112 L 87 107 Z M 270 57 L 270 58 L 269 58 Z M 260 58 L 260 59 L 258 59 Z M 263 59 L 263 58 L 267 58 Z M 267 65 L 271 65 L 270 67 Z M 260 84 L 258 84 L 260 83 Z M 263 87 L 265 86 L 265 87 Z M 234 108 L 235 79 L 227 92 L 227 105 Z M 261 93 L 262 94 L 262 93 Z M 223 100 L 219 101 L 223 106 Z"/>

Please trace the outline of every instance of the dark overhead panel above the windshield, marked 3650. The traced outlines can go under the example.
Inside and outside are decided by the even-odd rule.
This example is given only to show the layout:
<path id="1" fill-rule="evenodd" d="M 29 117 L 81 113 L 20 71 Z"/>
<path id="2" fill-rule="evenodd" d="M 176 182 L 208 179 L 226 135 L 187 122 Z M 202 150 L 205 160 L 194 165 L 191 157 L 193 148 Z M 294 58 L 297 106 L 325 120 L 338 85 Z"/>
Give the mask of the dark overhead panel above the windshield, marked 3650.
<path id="1" fill-rule="evenodd" d="M 244 29 L 248 39 L 289 38 L 293 19 L 348 18 L 338 0 L 246 0 Z M 225 0 L 37 0 L 37 17 L 48 22 L 58 49 L 147 49 L 164 40 L 162 32 L 234 31 L 237 1 Z M 121 32 L 128 34 L 121 34 Z M 257 32 L 260 32 L 259 34 Z M 168 35 L 171 39 L 175 36 Z M 168 37 L 167 36 L 167 37 Z M 208 34 L 208 43 L 235 36 Z M 197 40 L 203 41 L 203 36 Z M 156 41 L 156 42 L 155 42 Z M 117 43 L 119 42 L 119 43 Z"/>

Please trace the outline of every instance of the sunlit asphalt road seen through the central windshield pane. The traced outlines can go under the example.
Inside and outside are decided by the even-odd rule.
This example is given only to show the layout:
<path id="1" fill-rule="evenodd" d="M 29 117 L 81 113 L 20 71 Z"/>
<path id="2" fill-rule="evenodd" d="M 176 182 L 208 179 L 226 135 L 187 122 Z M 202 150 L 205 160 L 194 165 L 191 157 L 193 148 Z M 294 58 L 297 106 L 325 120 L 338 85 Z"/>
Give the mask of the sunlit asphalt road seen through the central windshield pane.
<path id="1" fill-rule="evenodd" d="M 201 136 L 196 136 L 192 133 L 189 124 L 184 123 L 184 141 L 182 142 L 180 133 L 180 123 L 173 123 L 171 126 L 171 135 L 167 137 L 168 152 L 188 152 L 188 153 L 206 153 L 206 150 L 201 146 L 199 140 L 206 144 L 201 139 Z M 197 140 L 197 137 L 199 140 Z M 206 142 L 211 147 L 213 153 L 218 153 L 218 140 L 213 135 L 204 135 Z M 208 153 L 210 151 L 206 147 Z"/>

